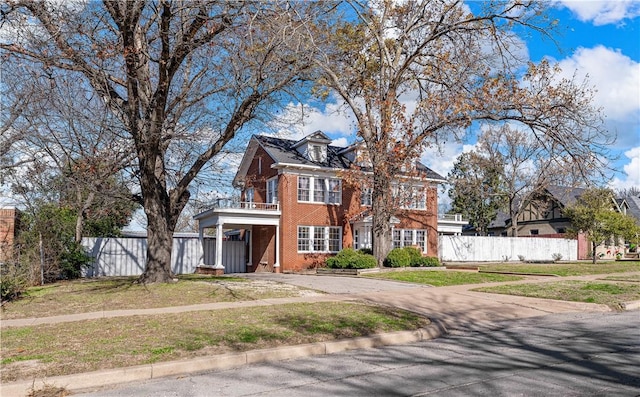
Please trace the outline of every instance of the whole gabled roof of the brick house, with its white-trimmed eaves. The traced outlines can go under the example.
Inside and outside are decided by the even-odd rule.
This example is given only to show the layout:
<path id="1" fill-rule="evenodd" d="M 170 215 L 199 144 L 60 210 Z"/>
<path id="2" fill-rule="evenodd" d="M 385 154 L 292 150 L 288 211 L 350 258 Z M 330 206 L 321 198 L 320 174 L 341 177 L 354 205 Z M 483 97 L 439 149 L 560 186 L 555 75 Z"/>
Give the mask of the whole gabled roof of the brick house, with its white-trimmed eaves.
<path id="1" fill-rule="evenodd" d="M 349 169 L 352 165 L 351 160 L 346 156 L 348 151 L 345 148 L 339 146 L 332 146 L 327 144 L 327 157 L 325 161 L 312 161 L 305 157 L 302 153 L 296 150 L 304 142 L 330 142 L 330 139 L 321 131 L 316 131 L 309 136 L 294 141 L 291 139 L 277 138 L 266 135 L 254 135 L 249 141 L 247 150 L 242 158 L 240 167 L 236 177 L 234 178 L 234 185 L 240 180 L 240 177 L 246 175 L 249 169 L 249 164 L 255 156 L 258 147 L 262 147 L 269 156 L 273 159 L 277 166 L 299 166 L 299 167 L 317 167 L 318 170 L 322 169 Z M 417 169 L 424 173 L 424 176 L 431 180 L 444 182 L 443 178 L 437 172 L 431 170 L 424 164 L 417 163 Z"/>

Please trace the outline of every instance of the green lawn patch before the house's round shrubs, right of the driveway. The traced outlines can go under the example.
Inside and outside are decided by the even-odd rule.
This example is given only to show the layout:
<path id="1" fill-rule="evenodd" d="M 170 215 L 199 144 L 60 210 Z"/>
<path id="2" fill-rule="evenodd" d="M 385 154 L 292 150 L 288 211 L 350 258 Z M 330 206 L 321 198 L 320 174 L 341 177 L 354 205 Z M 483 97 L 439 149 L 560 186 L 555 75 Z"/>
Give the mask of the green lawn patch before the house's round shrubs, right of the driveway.
<path id="1" fill-rule="evenodd" d="M 523 279 L 523 277 L 520 276 L 511 276 L 504 274 L 424 270 L 370 273 L 366 274 L 365 277 L 384 278 L 388 280 L 406 281 L 417 284 L 428 284 L 435 287 L 462 284 L 493 283 L 499 281 L 517 281 Z"/>

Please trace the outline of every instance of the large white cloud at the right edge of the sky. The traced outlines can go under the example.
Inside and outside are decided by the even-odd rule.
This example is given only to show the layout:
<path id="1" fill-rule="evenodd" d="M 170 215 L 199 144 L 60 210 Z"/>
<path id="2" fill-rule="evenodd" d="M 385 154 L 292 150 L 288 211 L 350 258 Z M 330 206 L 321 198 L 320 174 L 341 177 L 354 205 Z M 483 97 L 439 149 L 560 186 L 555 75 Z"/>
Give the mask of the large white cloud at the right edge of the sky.
<path id="1" fill-rule="evenodd" d="M 563 77 L 588 77 L 596 87 L 594 105 L 602 107 L 607 128 L 618 135 L 618 147 L 628 148 L 640 137 L 640 63 L 619 50 L 597 46 L 578 48 L 558 62 Z"/>

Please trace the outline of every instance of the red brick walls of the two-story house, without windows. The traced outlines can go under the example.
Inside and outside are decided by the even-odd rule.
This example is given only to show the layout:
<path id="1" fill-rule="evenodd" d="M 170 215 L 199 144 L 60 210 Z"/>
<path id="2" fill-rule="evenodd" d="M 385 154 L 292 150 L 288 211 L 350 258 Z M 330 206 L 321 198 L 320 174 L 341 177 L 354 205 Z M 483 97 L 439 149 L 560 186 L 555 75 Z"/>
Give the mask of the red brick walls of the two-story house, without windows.
<path id="1" fill-rule="evenodd" d="M 339 226 L 342 229 L 342 248 L 353 246 L 351 223 L 368 208 L 360 203 L 359 186 L 350 186 L 343 180 L 341 204 L 298 201 L 300 176 L 341 179 L 337 176 L 335 167 L 297 166 L 289 164 L 291 158 L 286 159 L 286 165 L 283 166 L 262 145 L 258 145 L 252 153 L 253 157 L 243 159 L 245 164 L 248 161 L 248 166 L 242 175 L 241 201 L 249 201 L 246 197 L 247 189 L 252 188 L 253 202 L 266 203 L 267 181 L 277 178 L 277 201 L 281 215 L 278 238 L 275 236 L 275 226 L 252 226 L 251 260 L 247 271 L 299 272 L 323 265 L 326 257 L 333 255 L 332 253 L 298 252 L 299 226 Z M 279 159 L 282 161 L 282 157 Z M 398 211 L 395 216 L 400 222 L 394 225 L 399 229 L 426 230 L 426 255 L 435 257 L 438 255 L 437 207 L 437 185 L 429 184 L 426 187 L 426 208 Z M 278 262 L 276 240 L 279 242 L 280 268 L 274 268 L 274 264 Z"/>

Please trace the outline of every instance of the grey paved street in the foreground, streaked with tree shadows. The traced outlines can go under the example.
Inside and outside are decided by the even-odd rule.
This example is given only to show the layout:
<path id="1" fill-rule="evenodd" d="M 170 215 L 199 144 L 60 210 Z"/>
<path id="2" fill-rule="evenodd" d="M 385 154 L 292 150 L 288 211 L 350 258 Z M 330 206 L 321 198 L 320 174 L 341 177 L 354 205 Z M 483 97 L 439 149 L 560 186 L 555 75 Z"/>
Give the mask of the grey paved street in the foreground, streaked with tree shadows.
<path id="1" fill-rule="evenodd" d="M 561 313 L 406 346 L 279 361 L 85 396 L 639 396 L 640 312 Z"/>

